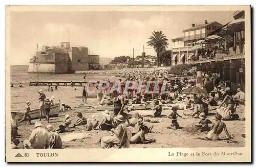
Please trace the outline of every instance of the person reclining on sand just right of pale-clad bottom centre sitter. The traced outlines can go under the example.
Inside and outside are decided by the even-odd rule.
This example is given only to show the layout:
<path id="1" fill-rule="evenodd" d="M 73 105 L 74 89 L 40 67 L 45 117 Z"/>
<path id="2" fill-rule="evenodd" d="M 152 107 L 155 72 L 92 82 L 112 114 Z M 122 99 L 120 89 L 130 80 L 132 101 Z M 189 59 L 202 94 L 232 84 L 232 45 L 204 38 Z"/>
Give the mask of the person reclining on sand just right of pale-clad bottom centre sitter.
<path id="1" fill-rule="evenodd" d="M 146 128 L 146 126 L 143 124 L 140 124 L 139 132 L 134 134 L 130 139 L 131 144 L 150 144 L 152 142 L 156 142 L 155 138 L 149 140 L 145 139 L 145 134 L 148 132 L 148 128 Z"/>

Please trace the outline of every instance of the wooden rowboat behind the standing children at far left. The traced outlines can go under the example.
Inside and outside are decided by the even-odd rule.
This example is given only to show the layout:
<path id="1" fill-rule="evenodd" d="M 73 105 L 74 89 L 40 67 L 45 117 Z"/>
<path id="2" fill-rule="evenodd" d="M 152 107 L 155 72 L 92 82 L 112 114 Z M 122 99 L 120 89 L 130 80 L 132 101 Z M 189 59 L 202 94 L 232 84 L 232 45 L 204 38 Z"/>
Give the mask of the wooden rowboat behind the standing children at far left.
<path id="1" fill-rule="evenodd" d="M 51 109 L 50 109 L 50 115 L 49 116 L 50 117 L 58 116 L 58 114 L 59 114 L 59 107 L 60 107 L 59 103 L 52 105 Z M 16 115 L 17 120 L 22 120 L 25 111 L 11 111 L 11 112 L 16 112 L 17 113 L 17 115 Z M 29 112 L 29 115 L 32 117 L 32 120 L 38 119 L 39 116 L 40 116 L 39 109 L 31 110 Z M 44 113 L 42 113 L 41 118 L 45 118 L 45 117 L 46 117 L 46 115 Z M 28 118 L 26 118 L 26 120 L 27 119 Z"/>

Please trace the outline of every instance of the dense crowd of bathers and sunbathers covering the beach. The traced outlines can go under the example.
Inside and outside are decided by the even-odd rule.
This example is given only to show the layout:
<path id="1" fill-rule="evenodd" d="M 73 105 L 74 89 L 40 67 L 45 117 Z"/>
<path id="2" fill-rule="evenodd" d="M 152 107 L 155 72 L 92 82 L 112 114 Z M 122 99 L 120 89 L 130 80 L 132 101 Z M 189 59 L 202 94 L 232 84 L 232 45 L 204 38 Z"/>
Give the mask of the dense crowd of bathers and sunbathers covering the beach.
<path id="1" fill-rule="evenodd" d="M 213 76 L 213 77 L 212 77 Z M 102 136 L 99 140 L 101 148 L 124 147 L 129 148 L 130 144 L 150 144 L 157 142 L 155 138 L 145 139 L 145 134 L 151 133 L 153 125 L 157 123 L 154 118 L 167 117 L 170 119 L 170 125 L 166 128 L 177 130 L 180 129 L 178 117 L 183 119 L 196 118 L 195 126 L 200 128 L 201 132 L 207 132 L 206 137 L 198 137 L 202 140 L 219 140 L 219 135 L 224 130 L 227 138 L 234 141 L 228 133 L 228 128 L 222 120 L 243 120 L 236 112 L 239 105 L 245 104 L 245 93 L 240 87 L 236 93 L 231 92 L 230 87 L 225 87 L 220 83 L 221 77 L 218 73 L 212 74 L 211 79 L 215 80 L 214 84 L 209 84 L 209 73 L 203 76 L 206 78 L 206 84 L 198 84 L 196 78 L 181 79 L 176 76 L 175 79 L 169 79 L 166 70 L 141 71 L 140 69 L 127 71 L 123 73 L 119 84 L 121 90 L 113 90 L 113 85 L 105 89 L 100 89 L 104 83 L 99 81 L 96 83 L 96 93 L 98 105 L 106 109 L 101 113 L 102 120 L 97 120 L 97 116 L 86 118 L 81 112 L 77 114 L 77 118 L 72 118 L 69 114 L 65 115 L 63 122 L 53 129 L 50 125 L 49 114 L 51 106 L 54 104 L 54 97 L 46 97 L 42 90 L 39 90 L 39 113 L 40 117 L 35 122 L 35 129 L 32 131 L 30 138 L 24 141 L 25 148 L 33 149 L 59 149 L 62 147 L 61 137 L 59 133 L 66 133 L 70 128 L 81 126 L 85 131 L 106 130 L 111 134 Z M 109 80 L 106 80 L 109 81 Z M 139 87 L 126 87 L 126 82 L 133 81 L 135 83 L 142 82 L 143 85 L 149 85 L 148 90 Z M 154 85 L 157 82 L 157 86 Z M 162 88 L 165 85 L 164 89 Z M 210 86 L 209 86 L 210 85 Z M 103 85 L 104 86 L 104 85 Z M 156 91 L 154 88 L 157 88 Z M 164 90 L 167 90 L 166 93 Z M 153 92 L 153 93 L 152 93 Z M 82 103 L 87 103 L 88 92 L 86 86 L 82 90 Z M 60 103 L 60 101 L 59 101 Z M 12 112 L 11 116 L 11 137 L 13 148 L 17 148 L 18 143 L 18 126 L 19 123 L 26 120 L 28 117 L 31 124 L 31 116 L 29 113 L 30 102 L 26 103 L 24 117 L 19 122 L 16 120 L 16 113 Z M 97 109 L 98 106 L 87 105 L 88 107 Z M 143 106 L 143 110 L 137 110 L 138 106 Z M 113 112 L 111 112 L 110 108 Z M 72 110 L 70 106 L 61 103 L 60 112 Z M 162 110 L 169 110 L 169 114 L 163 116 Z M 182 112 L 179 112 L 182 111 Z M 178 113 L 179 112 L 179 113 Z M 213 120 L 209 120 L 207 116 L 210 112 L 215 114 Z M 48 125 L 42 128 L 41 114 L 44 113 Z M 181 114 L 182 113 L 182 114 Z M 152 119 L 151 119 L 152 118 Z M 75 120 L 72 124 L 72 120 Z M 150 123 L 147 123 L 150 122 Z M 134 128 L 138 131 L 134 131 Z"/>

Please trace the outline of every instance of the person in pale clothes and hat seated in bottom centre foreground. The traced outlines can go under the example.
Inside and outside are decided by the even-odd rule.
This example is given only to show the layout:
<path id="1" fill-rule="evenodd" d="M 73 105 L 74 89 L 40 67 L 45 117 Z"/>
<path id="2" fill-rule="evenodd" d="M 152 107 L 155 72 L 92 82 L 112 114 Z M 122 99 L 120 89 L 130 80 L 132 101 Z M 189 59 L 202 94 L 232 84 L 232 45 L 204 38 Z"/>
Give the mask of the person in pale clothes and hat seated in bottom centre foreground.
<path id="1" fill-rule="evenodd" d="M 115 129 L 111 129 L 111 134 L 109 136 L 104 136 L 100 139 L 101 142 L 101 148 L 111 148 L 114 145 L 119 145 L 121 142 L 121 138 L 123 136 L 123 133 L 127 131 L 127 127 L 124 124 L 123 115 L 117 115 L 115 117 L 115 120 L 117 122 L 117 127 Z M 129 142 L 130 144 L 130 138 L 127 137 L 126 142 Z M 127 146 L 127 144 L 126 144 Z"/>

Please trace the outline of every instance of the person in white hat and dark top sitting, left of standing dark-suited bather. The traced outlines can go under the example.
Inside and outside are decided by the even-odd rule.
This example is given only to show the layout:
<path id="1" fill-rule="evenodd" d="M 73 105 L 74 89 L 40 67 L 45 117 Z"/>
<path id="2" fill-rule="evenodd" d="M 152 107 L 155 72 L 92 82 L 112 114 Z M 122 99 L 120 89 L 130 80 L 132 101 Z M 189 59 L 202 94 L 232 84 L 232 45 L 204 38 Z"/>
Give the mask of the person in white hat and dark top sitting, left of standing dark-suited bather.
<path id="1" fill-rule="evenodd" d="M 113 117 L 110 114 L 109 110 L 105 110 L 102 112 L 103 118 L 96 129 L 100 130 L 108 130 L 110 131 L 114 127 Z"/>

